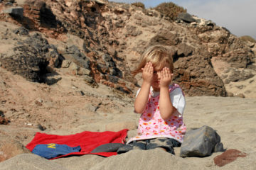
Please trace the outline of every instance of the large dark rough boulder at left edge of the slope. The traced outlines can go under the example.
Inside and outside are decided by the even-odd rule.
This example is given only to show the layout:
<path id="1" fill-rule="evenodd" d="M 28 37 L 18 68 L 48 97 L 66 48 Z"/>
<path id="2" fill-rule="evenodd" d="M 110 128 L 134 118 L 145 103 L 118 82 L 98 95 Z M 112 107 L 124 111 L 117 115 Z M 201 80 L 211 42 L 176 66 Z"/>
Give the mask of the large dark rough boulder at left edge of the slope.
<path id="1" fill-rule="evenodd" d="M 0 62 L 2 67 L 14 74 L 30 81 L 43 82 L 48 66 L 48 47 L 48 41 L 41 34 L 34 33 L 22 42 L 18 40 L 13 47 L 14 52 L 2 54 Z"/>

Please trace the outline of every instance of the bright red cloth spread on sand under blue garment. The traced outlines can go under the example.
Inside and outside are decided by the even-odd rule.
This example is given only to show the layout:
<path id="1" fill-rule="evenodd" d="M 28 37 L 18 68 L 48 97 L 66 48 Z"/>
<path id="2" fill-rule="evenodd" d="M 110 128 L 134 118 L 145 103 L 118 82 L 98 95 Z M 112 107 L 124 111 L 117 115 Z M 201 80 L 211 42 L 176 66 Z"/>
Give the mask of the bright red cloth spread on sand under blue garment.
<path id="1" fill-rule="evenodd" d="M 85 131 L 77 133 L 75 135 L 48 135 L 46 133 L 37 132 L 33 140 L 26 145 L 26 148 L 33 150 L 38 144 L 49 144 L 55 143 L 59 145 L 68 145 L 70 147 L 81 147 L 80 152 L 72 152 L 70 154 L 61 155 L 53 159 L 60 157 L 66 157 L 68 155 L 83 155 L 83 154 L 98 154 L 104 157 L 110 157 L 116 155 L 117 152 L 100 152 L 90 153 L 96 147 L 107 143 L 124 143 L 125 137 L 127 136 L 127 129 L 119 132 L 90 132 Z"/>

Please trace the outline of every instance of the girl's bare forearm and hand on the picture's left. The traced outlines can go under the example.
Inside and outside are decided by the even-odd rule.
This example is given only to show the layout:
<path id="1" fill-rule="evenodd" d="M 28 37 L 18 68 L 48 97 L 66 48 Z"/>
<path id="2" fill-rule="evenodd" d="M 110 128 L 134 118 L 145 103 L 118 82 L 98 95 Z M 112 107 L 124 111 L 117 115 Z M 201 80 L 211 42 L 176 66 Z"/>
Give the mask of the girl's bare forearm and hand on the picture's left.
<path id="1" fill-rule="evenodd" d="M 151 82 L 153 81 L 153 66 L 151 62 L 146 63 L 145 67 L 142 69 L 142 88 L 139 91 L 137 98 L 134 103 L 134 112 L 143 113 L 146 108 L 146 103 L 149 100 L 149 91 Z"/>

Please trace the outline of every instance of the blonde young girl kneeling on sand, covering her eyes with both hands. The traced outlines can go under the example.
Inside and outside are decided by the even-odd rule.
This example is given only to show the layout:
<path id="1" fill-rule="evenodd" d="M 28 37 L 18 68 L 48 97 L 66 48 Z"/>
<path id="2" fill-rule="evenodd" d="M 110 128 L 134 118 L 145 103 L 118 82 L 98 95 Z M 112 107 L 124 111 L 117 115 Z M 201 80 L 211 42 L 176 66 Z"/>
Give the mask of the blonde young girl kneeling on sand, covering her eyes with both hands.
<path id="1" fill-rule="evenodd" d="M 171 52 L 161 45 L 149 47 L 133 73 L 139 72 L 142 72 L 143 82 L 134 103 L 134 113 L 142 114 L 138 135 L 117 153 L 162 147 L 174 154 L 173 147 L 181 145 L 186 132 L 182 118 L 186 102 L 181 88 L 172 83 Z"/>

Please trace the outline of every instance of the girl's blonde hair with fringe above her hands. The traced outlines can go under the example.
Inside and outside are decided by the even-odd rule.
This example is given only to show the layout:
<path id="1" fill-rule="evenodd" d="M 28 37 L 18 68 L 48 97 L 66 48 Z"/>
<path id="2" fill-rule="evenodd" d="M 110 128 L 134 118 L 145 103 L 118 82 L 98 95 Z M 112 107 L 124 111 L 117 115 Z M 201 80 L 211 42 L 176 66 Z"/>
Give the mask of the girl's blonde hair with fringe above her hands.
<path id="1" fill-rule="evenodd" d="M 169 67 L 170 71 L 173 73 L 173 55 L 174 53 L 171 52 L 171 50 L 162 45 L 151 46 L 147 48 L 143 55 L 140 57 L 137 69 L 134 69 L 134 71 L 132 71 L 132 74 L 134 74 L 135 76 L 139 72 L 142 72 L 142 68 L 144 68 L 147 62 L 151 62 L 153 64 L 153 67 L 156 69 Z"/>

